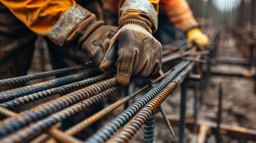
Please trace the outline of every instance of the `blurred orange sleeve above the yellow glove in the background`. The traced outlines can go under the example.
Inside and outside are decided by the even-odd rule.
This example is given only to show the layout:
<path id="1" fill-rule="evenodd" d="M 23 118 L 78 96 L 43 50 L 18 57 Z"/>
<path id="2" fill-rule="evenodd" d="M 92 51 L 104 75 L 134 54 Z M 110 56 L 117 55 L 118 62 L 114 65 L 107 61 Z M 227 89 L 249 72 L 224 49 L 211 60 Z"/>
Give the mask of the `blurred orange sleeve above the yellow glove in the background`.
<path id="1" fill-rule="evenodd" d="M 177 29 L 185 32 L 199 26 L 186 0 L 161 0 L 159 5 Z"/>

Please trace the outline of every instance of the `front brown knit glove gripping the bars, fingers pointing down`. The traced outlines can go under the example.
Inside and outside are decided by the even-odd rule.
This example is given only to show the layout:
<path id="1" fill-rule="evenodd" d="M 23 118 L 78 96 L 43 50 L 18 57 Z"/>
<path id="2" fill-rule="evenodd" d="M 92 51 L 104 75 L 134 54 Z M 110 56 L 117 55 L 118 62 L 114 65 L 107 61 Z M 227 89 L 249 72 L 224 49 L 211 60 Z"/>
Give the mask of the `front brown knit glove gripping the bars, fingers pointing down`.
<path id="1" fill-rule="evenodd" d="M 118 82 L 128 85 L 131 75 L 144 77 L 158 73 L 162 66 L 162 46 L 141 20 L 124 21 L 112 38 L 101 70 L 108 70 L 116 63 Z"/>

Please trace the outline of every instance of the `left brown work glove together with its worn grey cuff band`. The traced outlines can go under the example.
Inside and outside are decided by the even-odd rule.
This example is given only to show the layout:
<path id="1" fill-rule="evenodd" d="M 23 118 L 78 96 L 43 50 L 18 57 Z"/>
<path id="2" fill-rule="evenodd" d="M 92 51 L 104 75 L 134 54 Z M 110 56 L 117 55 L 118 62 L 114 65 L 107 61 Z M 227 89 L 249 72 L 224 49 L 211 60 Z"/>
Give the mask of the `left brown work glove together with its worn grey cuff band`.
<path id="1" fill-rule="evenodd" d="M 77 4 L 60 17 L 48 37 L 57 45 L 78 44 L 99 66 L 116 32 L 118 27 L 104 25 L 95 14 Z"/>

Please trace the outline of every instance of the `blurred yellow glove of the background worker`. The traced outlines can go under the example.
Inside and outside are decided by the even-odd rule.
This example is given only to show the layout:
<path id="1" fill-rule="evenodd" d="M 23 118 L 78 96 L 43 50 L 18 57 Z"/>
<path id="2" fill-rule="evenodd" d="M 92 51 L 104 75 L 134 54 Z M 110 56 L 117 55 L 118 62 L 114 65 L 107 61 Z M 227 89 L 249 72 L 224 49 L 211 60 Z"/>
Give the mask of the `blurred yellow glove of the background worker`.
<path id="1" fill-rule="evenodd" d="M 194 43 L 201 49 L 201 51 L 205 51 L 208 48 L 209 39 L 205 34 L 201 32 L 200 29 L 195 28 L 187 32 L 187 43 Z"/>

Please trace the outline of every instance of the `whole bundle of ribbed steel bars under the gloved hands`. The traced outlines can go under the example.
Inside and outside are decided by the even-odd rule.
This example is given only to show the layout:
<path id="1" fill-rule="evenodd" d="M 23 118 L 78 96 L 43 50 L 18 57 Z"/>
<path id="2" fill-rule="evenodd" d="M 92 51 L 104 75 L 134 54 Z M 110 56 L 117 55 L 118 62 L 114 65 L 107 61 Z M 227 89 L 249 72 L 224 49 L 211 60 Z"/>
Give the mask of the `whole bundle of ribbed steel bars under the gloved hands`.
<path id="1" fill-rule="evenodd" d="M 120 96 L 118 101 L 67 130 L 60 130 L 54 125 L 74 114 L 81 113 L 85 108 L 124 88 L 116 80 L 115 69 L 103 72 L 97 69 L 94 64 L 88 63 L 85 66 L 0 80 L 0 86 L 5 86 L 63 73 L 67 75 L 0 92 L 0 141 L 25 142 L 29 141 L 32 136 L 47 133 L 52 137 L 50 142 L 83 142 L 81 139 L 75 138 L 74 135 L 141 93 L 144 95 L 139 100 L 133 102 L 85 142 L 128 142 L 145 124 L 149 127 L 145 128 L 145 133 L 147 132 L 145 141 L 152 142 L 153 123 L 155 122 L 153 119 L 159 108 L 166 119 L 169 130 L 174 134 L 161 104 L 186 79 L 195 67 L 195 63 L 203 62 L 201 55 L 208 54 L 207 51 L 200 52 L 197 51 L 196 47 L 182 44 L 184 42 L 186 41 L 178 41 L 165 48 L 163 64 L 178 59 L 180 62 L 176 66 L 170 67 L 169 70 L 159 74 L 159 76 L 152 77 L 155 80 L 149 79 L 151 82 L 143 88 L 123 98 Z M 149 89 L 150 91 L 146 93 Z M 58 95 L 61 96 L 58 97 Z M 53 96 L 57 98 L 34 105 L 30 110 L 15 112 L 21 105 Z M 173 136 L 175 137 L 175 135 Z"/>

